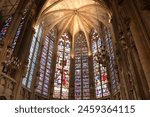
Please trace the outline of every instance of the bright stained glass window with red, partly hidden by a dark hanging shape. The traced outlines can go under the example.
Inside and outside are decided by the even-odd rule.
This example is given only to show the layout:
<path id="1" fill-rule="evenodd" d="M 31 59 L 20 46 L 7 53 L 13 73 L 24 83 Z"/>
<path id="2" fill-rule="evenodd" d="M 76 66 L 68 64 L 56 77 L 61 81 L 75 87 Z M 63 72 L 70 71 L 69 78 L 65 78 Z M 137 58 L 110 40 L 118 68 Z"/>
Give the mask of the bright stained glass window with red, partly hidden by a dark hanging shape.
<path id="1" fill-rule="evenodd" d="M 92 33 L 92 52 L 96 98 L 107 97 L 110 95 L 108 89 L 107 68 L 97 60 L 97 53 L 102 46 L 103 42 L 97 31 L 94 30 Z"/>

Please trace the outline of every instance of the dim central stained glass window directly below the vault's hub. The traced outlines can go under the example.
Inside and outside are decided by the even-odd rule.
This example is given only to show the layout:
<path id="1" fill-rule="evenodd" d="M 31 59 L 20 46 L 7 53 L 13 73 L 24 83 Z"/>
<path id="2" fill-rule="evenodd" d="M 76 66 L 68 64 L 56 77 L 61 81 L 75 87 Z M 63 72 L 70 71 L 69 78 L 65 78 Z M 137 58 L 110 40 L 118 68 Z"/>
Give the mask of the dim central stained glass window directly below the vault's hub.
<path id="1" fill-rule="evenodd" d="M 75 40 L 75 99 L 90 99 L 88 48 L 83 33 Z"/>

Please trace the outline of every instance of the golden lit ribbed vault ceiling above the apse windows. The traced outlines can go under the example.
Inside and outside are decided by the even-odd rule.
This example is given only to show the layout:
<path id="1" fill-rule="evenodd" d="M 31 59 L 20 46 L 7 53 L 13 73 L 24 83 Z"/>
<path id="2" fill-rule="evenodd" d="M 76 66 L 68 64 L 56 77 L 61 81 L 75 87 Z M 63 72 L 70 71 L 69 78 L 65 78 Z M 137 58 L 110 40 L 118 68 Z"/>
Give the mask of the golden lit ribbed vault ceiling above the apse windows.
<path id="1" fill-rule="evenodd" d="M 38 21 L 44 21 L 48 31 L 56 26 L 59 35 L 70 32 L 74 42 L 79 31 L 83 31 L 88 40 L 91 29 L 98 30 L 100 22 L 108 26 L 109 18 L 103 0 L 47 0 Z M 89 41 L 87 43 L 89 46 Z"/>

